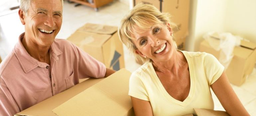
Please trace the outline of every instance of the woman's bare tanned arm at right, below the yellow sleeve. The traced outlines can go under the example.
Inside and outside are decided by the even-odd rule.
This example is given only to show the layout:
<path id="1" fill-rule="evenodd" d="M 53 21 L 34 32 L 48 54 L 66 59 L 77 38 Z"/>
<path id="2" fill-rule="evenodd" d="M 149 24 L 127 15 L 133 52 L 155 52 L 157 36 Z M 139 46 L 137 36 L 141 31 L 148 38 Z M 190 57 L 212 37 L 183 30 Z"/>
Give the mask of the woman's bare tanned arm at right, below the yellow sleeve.
<path id="1" fill-rule="evenodd" d="M 250 116 L 238 99 L 233 88 L 230 86 L 225 71 L 221 74 L 219 79 L 211 85 L 211 88 L 229 115 Z"/>

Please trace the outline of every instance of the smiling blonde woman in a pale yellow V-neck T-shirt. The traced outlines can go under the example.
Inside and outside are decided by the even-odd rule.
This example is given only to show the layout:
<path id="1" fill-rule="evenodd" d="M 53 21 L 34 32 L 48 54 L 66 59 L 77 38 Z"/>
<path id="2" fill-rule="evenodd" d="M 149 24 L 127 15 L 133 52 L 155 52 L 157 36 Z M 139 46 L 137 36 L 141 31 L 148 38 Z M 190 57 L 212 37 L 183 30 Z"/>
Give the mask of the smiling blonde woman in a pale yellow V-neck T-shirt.
<path id="1" fill-rule="evenodd" d="M 230 115 L 249 115 L 211 54 L 177 50 L 169 14 L 139 4 L 122 19 L 119 37 L 144 64 L 130 77 L 137 116 L 180 116 L 214 109 L 210 87 Z"/>

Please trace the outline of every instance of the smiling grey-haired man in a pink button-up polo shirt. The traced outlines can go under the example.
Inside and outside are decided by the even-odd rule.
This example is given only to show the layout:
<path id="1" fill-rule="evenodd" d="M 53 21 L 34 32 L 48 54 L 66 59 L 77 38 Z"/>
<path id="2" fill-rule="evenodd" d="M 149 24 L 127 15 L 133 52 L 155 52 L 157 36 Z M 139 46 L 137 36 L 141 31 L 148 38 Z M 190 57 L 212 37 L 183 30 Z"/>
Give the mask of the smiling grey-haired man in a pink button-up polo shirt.
<path id="1" fill-rule="evenodd" d="M 0 115 L 14 115 L 79 83 L 115 71 L 64 39 L 63 0 L 21 0 L 25 33 L 0 65 Z"/>

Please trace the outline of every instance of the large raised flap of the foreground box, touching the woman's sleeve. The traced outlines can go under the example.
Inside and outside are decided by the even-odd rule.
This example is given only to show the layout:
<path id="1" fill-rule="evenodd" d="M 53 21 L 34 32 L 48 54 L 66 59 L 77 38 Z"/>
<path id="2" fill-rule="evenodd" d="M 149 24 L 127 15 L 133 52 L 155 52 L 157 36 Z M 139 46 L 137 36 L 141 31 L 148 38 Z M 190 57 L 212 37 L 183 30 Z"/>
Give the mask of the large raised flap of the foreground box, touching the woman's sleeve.
<path id="1" fill-rule="evenodd" d="M 134 115 L 128 95 L 131 73 L 121 69 L 53 110 L 58 116 Z"/>

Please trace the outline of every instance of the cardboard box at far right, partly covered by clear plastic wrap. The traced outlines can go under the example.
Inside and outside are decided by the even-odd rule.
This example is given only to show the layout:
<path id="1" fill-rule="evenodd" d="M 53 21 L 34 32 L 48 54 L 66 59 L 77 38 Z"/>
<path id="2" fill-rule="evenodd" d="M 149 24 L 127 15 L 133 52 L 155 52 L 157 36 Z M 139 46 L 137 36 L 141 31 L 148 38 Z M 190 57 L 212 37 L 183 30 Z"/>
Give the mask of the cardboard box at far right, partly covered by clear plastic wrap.
<path id="1" fill-rule="evenodd" d="M 216 39 L 216 41 L 219 41 Z M 209 43 L 203 40 L 199 48 L 200 52 L 207 52 L 219 58 L 220 51 L 213 49 Z M 256 61 L 256 44 L 241 40 L 240 46 L 235 46 L 233 50 L 234 57 L 226 69 L 229 82 L 240 86 L 251 74 Z"/>

